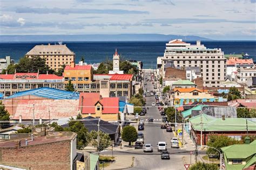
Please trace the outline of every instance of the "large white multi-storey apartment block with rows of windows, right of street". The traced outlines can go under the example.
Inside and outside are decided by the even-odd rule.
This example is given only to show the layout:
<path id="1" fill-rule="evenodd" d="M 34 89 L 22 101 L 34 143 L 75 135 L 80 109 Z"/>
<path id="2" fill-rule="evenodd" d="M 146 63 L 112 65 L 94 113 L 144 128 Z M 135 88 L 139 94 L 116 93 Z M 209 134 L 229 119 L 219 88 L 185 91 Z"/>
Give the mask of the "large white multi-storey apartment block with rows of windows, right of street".
<path id="1" fill-rule="evenodd" d="M 159 64 L 159 60 L 161 64 Z M 164 77 L 165 64 L 172 61 L 174 67 L 200 67 L 201 76 L 206 87 L 219 87 L 226 78 L 226 58 L 221 49 L 208 49 L 200 41 L 192 45 L 182 39 L 166 43 L 163 57 L 158 57 L 158 68 Z"/>

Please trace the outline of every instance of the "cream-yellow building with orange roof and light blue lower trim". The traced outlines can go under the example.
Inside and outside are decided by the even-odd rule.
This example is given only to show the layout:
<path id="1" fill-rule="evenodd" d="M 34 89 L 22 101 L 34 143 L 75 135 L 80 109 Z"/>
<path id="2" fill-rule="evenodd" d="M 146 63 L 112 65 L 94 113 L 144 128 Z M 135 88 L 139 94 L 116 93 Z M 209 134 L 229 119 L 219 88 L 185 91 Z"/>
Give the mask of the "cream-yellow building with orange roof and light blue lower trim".
<path id="1" fill-rule="evenodd" d="M 194 87 L 192 88 L 174 88 L 171 91 L 171 102 L 176 107 L 181 105 L 198 102 L 217 102 L 222 101 L 222 97 L 215 97 L 212 94 L 207 93 L 206 90 L 199 90 Z"/>

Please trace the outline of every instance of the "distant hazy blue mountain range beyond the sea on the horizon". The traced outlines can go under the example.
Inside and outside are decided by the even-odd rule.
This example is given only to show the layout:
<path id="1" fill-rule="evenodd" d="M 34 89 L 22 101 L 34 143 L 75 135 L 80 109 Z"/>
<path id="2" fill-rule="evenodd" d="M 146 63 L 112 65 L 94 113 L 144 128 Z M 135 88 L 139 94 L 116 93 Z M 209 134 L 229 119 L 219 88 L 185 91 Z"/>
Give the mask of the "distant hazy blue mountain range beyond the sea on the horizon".
<path id="1" fill-rule="evenodd" d="M 0 36 L 0 42 L 56 42 L 56 41 L 169 41 L 183 40 L 211 40 L 199 36 L 163 35 L 157 33 L 145 34 L 117 34 L 117 35 L 10 35 Z"/>

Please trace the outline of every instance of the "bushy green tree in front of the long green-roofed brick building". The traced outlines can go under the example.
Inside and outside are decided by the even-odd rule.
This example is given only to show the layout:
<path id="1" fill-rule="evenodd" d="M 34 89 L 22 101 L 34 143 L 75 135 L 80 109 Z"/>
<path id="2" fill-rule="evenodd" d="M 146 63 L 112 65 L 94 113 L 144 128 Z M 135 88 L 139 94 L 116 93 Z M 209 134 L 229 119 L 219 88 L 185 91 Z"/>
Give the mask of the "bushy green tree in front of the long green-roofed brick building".
<path id="1" fill-rule="evenodd" d="M 221 147 L 226 147 L 234 144 L 241 144 L 241 141 L 235 140 L 234 138 L 227 137 L 225 135 L 211 134 L 208 137 L 207 146 L 214 147 L 220 151 Z M 213 148 L 208 148 L 207 154 L 219 155 L 219 152 Z"/>

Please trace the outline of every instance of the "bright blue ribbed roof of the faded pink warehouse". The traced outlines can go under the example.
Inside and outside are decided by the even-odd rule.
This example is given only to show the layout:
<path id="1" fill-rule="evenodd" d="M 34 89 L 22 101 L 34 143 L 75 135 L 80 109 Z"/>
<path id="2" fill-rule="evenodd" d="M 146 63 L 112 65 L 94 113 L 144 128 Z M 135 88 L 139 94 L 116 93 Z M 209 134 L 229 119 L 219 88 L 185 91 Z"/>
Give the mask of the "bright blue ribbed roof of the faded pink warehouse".
<path id="1" fill-rule="evenodd" d="M 18 92 L 12 96 L 6 97 L 6 99 L 28 96 L 28 95 L 43 97 L 43 98 L 48 98 L 48 99 L 79 99 L 79 93 L 65 91 L 65 90 L 59 90 L 59 89 L 53 89 L 50 87 L 42 87 L 42 88 L 38 88 L 38 89 L 32 89 L 32 90 Z"/>

